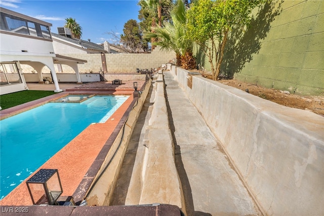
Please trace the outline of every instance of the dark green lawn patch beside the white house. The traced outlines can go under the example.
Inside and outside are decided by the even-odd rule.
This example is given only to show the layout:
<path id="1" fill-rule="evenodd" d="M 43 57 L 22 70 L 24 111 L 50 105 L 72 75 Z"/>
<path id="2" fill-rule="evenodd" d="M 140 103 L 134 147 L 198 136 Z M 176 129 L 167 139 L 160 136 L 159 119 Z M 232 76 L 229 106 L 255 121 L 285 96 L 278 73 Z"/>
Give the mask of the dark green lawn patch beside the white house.
<path id="1" fill-rule="evenodd" d="M 26 90 L 0 96 L 0 106 L 3 110 L 32 100 L 56 94 L 54 91 Z"/>

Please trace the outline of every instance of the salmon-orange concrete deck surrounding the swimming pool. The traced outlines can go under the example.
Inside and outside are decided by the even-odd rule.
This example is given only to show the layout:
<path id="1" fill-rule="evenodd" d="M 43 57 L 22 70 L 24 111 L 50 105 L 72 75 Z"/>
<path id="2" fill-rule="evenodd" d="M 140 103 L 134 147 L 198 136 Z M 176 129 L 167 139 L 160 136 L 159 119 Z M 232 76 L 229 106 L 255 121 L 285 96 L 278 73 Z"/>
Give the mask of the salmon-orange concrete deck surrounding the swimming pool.
<path id="1" fill-rule="evenodd" d="M 39 84 L 40 87 L 47 86 Z M 68 89 L 67 89 L 68 90 Z M 61 92 L 55 95 L 41 98 L 35 101 L 24 103 L 10 109 L 1 111 L 1 118 L 7 118 L 12 115 L 24 112 L 32 109 L 38 105 L 44 104 L 55 98 L 68 95 L 69 93 L 91 93 L 91 94 L 128 94 L 133 93 L 133 89 L 125 89 L 121 91 L 111 92 L 105 90 L 89 90 L 78 89 L 72 92 Z M 78 185 L 84 178 L 85 174 L 89 170 L 90 166 L 95 161 L 96 157 L 100 153 L 102 147 L 105 145 L 107 139 L 112 134 L 120 119 L 125 112 L 129 109 L 129 106 L 133 102 L 133 95 L 118 108 L 118 110 L 105 122 L 99 124 L 92 124 L 88 126 L 82 133 L 76 136 L 71 142 L 69 142 L 63 149 L 56 153 L 41 168 L 58 169 L 61 183 L 63 187 L 62 196 L 72 196 Z M 91 147 L 91 148 L 89 148 Z M 38 169 L 37 169 L 38 170 Z M 37 172 L 37 170 L 35 172 Z M 34 173 L 35 173 L 34 172 Z M 29 179 L 29 177 L 27 178 Z M 26 181 L 22 182 L 17 188 L 15 188 L 10 194 L 0 201 L 0 205 L 32 205 L 32 201 L 26 186 Z"/>

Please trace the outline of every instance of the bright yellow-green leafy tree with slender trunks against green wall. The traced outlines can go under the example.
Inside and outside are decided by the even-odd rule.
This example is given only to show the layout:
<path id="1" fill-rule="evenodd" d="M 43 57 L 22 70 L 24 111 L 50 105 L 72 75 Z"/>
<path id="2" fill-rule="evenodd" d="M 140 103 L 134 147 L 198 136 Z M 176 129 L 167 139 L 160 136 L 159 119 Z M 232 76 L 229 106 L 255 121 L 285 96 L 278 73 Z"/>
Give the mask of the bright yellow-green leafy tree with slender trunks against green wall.
<path id="1" fill-rule="evenodd" d="M 213 80 L 218 78 L 229 32 L 234 27 L 249 26 L 252 10 L 265 1 L 199 0 L 191 5 L 187 12 L 188 34 L 208 56 Z"/>

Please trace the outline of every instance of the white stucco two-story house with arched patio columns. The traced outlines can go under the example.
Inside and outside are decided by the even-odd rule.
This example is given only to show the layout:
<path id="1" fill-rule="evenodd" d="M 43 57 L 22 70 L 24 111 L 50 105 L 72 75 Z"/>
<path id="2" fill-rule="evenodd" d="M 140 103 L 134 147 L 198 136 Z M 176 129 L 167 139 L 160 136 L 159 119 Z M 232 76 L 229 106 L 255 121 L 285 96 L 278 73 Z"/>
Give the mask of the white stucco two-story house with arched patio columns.
<path id="1" fill-rule="evenodd" d="M 21 64 L 34 68 L 43 82 L 42 69 L 48 67 L 55 92 L 61 92 L 54 64 L 68 64 L 81 82 L 77 64 L 87 62 L 55 54 L 51 23 L 0 7 L 0 94 L 28 89 Z"/>

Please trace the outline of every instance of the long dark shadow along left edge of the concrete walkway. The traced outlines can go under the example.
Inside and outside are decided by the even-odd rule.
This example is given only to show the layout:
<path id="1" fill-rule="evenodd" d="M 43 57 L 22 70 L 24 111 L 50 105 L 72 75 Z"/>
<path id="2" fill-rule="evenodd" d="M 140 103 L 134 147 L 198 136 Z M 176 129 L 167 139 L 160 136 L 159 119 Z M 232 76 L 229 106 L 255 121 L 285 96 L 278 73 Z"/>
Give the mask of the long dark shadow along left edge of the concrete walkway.
<path id="1" fill-rule="evenodd" d="M 172 139 L 173 143 L 175 146 L 175 163 L 176 163 L 176 168 L 178 171 L 178 175 L 180 178 L 180 184 L 182 187 L 183 191 L 183 196 L 184 196 L 184 201 L 185 201 L 185 207 L 186 207 L 186 212 L 187 215 L 201 215 L 201 216 L 207 216 L 211 215 L 210 213 L 205 213 L 201 211 L 194 211 L 194 204 L 193 204 L 193 199 L 192 199 L 192 192 L 191 192 L 191 186 L 189 183 L 189 179 L 186 173 L 186 170 L 184 168 L 182 158 L 181 158 L 181 148 L 177 144 L 177 139 L 175 136 L 175 126 L 173 123 L 173 117 L 172 117 L 172 111 L 170 109 L 170 103 L 168 100 L 168 94 L 167 94 L 167 85 L 165 84 L 164 86 L 164 94 L 166 98 L 166 105 L 167 105 L 167 111 L 168 111 L 168 117 L 169 117 L 169 125 L 170 125 L 170 130 L 172 134 Z"/>

